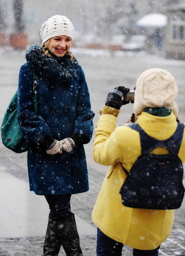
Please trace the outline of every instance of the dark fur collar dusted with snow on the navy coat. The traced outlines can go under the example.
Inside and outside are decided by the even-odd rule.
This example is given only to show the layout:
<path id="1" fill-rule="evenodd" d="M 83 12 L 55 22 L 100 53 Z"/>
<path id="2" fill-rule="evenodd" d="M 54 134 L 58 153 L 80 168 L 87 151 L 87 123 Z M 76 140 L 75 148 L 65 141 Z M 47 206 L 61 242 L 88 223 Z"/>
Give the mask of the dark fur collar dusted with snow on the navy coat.
<path id="1" fill-rule="evenodd" d="M 39 76 L 65 85 L 69 85 L 74 80 L 78 69 L 78 62 L 75 57 L 71 61 L 70 57 L 65 54 L 59 63 L 54 58 L 44 54 L 39 45 L 30 46 L 26 52 L 26 60 L 35 67 Z"/>

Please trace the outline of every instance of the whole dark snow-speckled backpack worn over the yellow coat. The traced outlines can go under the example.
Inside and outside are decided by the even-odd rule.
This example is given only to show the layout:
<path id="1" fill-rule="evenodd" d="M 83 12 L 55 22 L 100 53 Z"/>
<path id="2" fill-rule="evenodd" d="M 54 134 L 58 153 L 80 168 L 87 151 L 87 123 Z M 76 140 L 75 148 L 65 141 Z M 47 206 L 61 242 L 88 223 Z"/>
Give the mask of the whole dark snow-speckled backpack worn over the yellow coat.
<path id="1" fill-rule="evenodd" d="M 182 183 L 183 165 L 178 157 L 183 138 L 184 124 L 179 123 L 167 140 L 149 136 L 138 124 L 129 125 L 140 133 L 141 155 L 136 159 L 120 188 L 122 204 L 143 209 L 177 209 L 183 201 L 185 189 Z M 165 147 L 170 153 L 150 153 L 156 147 Z"/>

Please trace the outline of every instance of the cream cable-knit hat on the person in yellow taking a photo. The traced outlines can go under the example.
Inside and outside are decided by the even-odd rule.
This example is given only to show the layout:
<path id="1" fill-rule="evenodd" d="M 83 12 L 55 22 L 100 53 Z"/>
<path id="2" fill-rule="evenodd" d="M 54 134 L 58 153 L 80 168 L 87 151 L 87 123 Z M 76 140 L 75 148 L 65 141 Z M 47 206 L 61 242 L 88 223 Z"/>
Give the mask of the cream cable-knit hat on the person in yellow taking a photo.
<path id="1" fill-rule="evenodd" d="M 177 92 L 177 84 L 169 71 L 160 68 L 144 71 L 136 82 L 134 114 L 140 114 L 147 107 L 166 107 L 177 116 L 178 107 L 174 102 Z"/>

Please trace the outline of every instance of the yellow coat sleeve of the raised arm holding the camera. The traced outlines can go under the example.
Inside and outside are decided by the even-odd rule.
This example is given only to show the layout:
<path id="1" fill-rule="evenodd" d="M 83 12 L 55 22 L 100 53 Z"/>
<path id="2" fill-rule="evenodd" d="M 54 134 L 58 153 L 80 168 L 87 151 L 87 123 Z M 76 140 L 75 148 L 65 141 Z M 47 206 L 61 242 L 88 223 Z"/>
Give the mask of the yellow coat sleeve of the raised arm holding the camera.
<path id="1" fill-rule="evenodd" d="M 102 114 L 95 129 L 93 158 L 102 165 L 123 162 L 122 150 L 117 139 L 116 120 L 117 118 L 112 114 Z"/>

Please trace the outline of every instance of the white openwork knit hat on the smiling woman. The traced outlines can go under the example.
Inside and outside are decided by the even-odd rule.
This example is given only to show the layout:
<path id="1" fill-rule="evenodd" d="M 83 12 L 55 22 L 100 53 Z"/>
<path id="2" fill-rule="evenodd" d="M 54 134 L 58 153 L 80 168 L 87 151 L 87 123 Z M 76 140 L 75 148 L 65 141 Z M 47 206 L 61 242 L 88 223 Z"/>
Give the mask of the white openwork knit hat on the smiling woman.
<path id="1" fill-rule="evenodd" d="M 49 38 L 57 36 L 73 37 L 74 27 L 72 22 L 65 16 L 55 15 L 50 17 L 41 27 L 40 36 L 42 44 Z"/>

